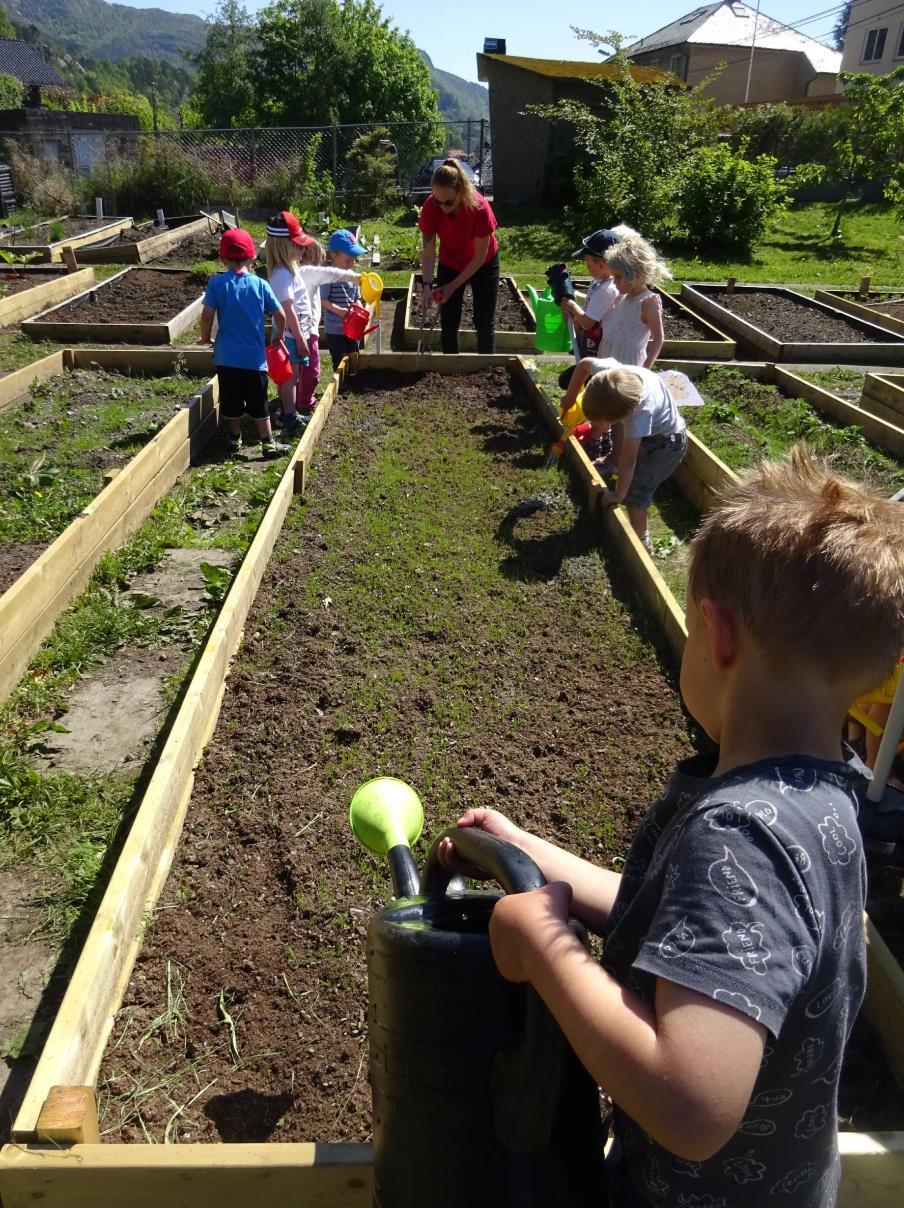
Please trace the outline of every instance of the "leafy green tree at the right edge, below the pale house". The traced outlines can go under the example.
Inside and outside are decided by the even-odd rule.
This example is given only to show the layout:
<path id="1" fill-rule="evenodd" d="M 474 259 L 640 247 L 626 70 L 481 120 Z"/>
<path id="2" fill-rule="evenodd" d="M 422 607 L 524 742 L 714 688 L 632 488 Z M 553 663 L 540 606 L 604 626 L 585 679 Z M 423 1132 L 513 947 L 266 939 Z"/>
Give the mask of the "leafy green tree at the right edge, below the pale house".
<path id="1" fill-rule="evenodd" d="M 840 185 L 831 238 L 841 234 L 848 198 L 880 182 L 904 217 L 904 66 L 886 75 L 842 71 L 848 121 L 822 163 L 801 164 L 796 180 Z"/>

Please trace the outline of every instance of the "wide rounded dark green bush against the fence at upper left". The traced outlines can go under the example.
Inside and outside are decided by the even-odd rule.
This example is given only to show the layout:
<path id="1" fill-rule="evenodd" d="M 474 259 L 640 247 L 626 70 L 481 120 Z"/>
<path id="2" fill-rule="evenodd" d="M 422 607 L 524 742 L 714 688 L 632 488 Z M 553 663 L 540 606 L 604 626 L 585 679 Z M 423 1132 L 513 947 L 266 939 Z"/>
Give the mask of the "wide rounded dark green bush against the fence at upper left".
<path id="1" fill-rule="evenodd" d="M 190 214 L 221 188 L 222 182 L 184 151 L 150 139 L 144 140 L 135 162 L 95 168 L 82 181 L 86 204 L 103 197 L 111 214 L 137 216 L 158 207 L 167 214 Z"/>

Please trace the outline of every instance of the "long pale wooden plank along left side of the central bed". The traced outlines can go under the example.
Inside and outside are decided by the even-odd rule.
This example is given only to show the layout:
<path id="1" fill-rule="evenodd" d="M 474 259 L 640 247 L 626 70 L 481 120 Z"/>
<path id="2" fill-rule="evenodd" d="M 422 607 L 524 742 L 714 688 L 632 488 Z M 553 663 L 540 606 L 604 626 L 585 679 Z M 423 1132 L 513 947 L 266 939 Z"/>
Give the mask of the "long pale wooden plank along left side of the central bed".
<path id="1" fill-rule="evenodd" d="M 15 1140 L 34 1139 L 52 1086 L 94 1085 L 140 947 L 141 919 L 169 872 L 193 769 L 216 725 L 231 660 L 291 503 L 295 463 L 311 455 L 335 399 L 334 382 L 314 412 L 320 413 L 318 424 L 312 419 L 289 460 L 214 622 L 16 1117 Z"/>

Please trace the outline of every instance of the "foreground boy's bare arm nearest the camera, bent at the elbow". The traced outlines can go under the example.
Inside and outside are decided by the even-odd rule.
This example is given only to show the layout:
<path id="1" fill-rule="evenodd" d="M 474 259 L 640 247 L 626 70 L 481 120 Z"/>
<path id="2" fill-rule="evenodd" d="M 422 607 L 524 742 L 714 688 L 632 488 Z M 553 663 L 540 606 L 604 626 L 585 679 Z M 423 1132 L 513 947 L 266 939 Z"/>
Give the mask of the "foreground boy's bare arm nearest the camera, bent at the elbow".
<path id="1" fill-rule="evenodd" d="M 587 1070 L 657 1144 L 711 1157 L 743 1119 L 765 1028 L 663 978 L 654 1004 L 642 1001 L 574 936 L 570 912 L 561 882 L 500 899 L 489 922 L 499 971 L 531 982 Z"/>

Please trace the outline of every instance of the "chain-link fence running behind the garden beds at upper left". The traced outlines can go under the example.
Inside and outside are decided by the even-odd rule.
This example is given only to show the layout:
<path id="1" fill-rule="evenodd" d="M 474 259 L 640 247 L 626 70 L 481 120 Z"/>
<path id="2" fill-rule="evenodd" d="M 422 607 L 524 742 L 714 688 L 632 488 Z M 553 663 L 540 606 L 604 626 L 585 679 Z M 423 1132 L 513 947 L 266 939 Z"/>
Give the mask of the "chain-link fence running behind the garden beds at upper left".
<path id="1" fill-rule="evenodd" d="M 73 115 L 66 115 L 68 124 Z M 337 193 L 350 185 L 349 152 L 375 129 L 394 157 L 396 185 L 406 191 L 417 173 L 433 156 L 456 155 L 467 159 L 483 192 L 492 191 L 489 122 L 469 118 L 458 122 L 381 122 L 321 127 L 248 127 L 228 130 L 132 130 L 30 129 L 0 130 L 0 150 L 8 157 L 12 147 L 40 155 L 54 167 L 85 178 L 111 165 L 138 163 L 155 147 L 179 151 L 215 181 L 237 181 L 254 186 L 292 163 L 312 158 L 318 173 L 330 178 Z"/>

